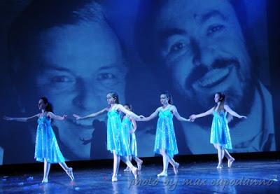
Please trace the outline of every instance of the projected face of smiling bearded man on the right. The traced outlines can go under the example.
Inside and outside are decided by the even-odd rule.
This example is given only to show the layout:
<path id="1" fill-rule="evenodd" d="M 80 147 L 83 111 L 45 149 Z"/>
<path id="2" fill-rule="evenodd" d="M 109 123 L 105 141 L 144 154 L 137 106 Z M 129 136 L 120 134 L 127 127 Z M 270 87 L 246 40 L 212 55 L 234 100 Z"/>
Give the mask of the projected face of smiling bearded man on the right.
<path id="1" fill-rule="evenodd" d="M 156 24 L 160 55 L 181 95 L 208 109 L 217 91 L 235 107 L 251 92 L 251 61 L 229 1 L 168 1 Z"/>

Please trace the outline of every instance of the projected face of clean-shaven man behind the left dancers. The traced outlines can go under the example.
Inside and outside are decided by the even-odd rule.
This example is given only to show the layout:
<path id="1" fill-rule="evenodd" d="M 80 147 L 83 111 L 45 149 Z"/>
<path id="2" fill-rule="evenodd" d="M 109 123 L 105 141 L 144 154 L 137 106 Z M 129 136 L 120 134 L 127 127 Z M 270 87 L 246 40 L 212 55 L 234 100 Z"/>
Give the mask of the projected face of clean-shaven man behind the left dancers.
<path id="1" fill-rule="evenodd" d="M 80 22 L 42 32 L 32 50 L 39 54 L 30 62 L 41 65 L 35 73 L 38 92 L 48 96 L 56 113 L 69 114 L 66 122 L 54 123 L 59 139 L 74 155 L 89 158 L 90 144 L 82 139 L 91 139 L 92 120 L 74 120 L 71 114 L 104 109 L 111 90 L 123 97 L 126 68 L 116 35 L 105 23 Z"/>

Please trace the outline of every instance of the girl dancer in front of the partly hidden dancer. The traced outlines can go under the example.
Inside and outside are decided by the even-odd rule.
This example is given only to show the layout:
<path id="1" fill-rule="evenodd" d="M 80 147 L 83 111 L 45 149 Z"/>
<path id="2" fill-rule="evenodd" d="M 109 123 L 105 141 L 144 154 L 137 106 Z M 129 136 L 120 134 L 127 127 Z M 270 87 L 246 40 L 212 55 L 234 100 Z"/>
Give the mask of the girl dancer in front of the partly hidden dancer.
<path id="1" fill-rule="evenodd" d="M 140 120 L 142 117 L 137 116 L 132 111 L 128 111 L 123 107 L 123 105 L 119 104 L 118 95 L 116 92 L 109 92 L 107 95 L 107 102 L 109 107 L 102 109 L 97 113 L 92 113 L 87 116 L 78 116 L 73 114 L 73 116 L 79 119 L 85 118 L 94 118 L 95 116 L 99 116 L 102 113 L 108 112 L 108 120 L 107 120 L 107 150 L 113 153 L 113 176 L 112 182 L 118 181 L 118 167 L 120 166 L 120 158 L 125 162 L 125 164 L 130 167 L 132 173 L 134 174 L 135 179 L 138 176 L 138 169 L 132 165 L 130 160 L 128 159 L 128 155 L 130 155 L 130 149 L 128 148 L 127 138 L 125 137 L 125 133 L 123 132 L 122 121 L 120 119 L 120 112 L 127 114 L 128 116 L 134 118 L 135 120 Z"/>

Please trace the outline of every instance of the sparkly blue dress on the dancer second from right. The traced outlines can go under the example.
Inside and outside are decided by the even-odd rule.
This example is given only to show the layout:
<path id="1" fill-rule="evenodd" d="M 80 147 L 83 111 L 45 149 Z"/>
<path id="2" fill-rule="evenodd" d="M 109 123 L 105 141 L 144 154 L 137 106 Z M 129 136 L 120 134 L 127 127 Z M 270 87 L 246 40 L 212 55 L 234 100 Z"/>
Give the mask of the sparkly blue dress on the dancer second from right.
<path id="1" fill-rule="evenodd" d="M 176 136 L 173 125 L 173 113 L 169 109 L 160 109 L 155 134 L 154 152 L 160 154 L 160 149 L 165 149 L 170 157 L 178 153 Z"/>

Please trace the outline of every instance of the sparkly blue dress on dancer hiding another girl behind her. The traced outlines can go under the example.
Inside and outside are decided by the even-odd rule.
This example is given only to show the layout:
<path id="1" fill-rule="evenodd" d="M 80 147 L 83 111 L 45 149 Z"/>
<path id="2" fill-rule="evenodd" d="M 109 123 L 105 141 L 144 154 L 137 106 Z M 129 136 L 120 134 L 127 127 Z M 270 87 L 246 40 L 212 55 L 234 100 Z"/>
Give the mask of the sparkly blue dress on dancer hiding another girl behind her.
<path id="1" fill-rule="evenodd" d="M 107 150 L 111 151 L 111 153 L 116 151 L 117 155 L 130 155 L 127 135 L 123 130 L 120 113 L 116 110 L 108 111 Z"/>

